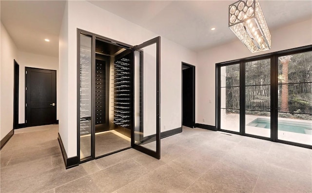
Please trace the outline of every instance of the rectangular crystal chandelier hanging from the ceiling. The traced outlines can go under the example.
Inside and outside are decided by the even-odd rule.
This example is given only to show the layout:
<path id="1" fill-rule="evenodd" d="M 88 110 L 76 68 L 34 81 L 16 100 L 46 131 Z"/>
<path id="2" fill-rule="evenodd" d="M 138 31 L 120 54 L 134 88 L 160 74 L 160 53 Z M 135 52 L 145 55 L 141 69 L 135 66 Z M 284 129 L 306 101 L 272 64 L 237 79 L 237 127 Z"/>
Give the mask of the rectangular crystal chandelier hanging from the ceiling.
<path id="1" fill-rule="evenodd" d="M 252 53 L 271 48 L 271 34 L 258 0 L 229 5 L 229 28 Z"/>

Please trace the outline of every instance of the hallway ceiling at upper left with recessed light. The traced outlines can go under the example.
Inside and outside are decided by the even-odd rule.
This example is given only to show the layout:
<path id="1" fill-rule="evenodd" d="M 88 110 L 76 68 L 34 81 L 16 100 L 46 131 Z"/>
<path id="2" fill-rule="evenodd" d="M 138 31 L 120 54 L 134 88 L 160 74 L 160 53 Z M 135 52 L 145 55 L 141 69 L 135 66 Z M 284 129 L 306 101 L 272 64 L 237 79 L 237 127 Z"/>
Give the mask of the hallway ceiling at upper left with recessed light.
<path id="1" fill-rule="evenodd" d="M 1 22 L 20 51 L 59 57 L 65 1 L 0 0 L 0 3 Z"/>

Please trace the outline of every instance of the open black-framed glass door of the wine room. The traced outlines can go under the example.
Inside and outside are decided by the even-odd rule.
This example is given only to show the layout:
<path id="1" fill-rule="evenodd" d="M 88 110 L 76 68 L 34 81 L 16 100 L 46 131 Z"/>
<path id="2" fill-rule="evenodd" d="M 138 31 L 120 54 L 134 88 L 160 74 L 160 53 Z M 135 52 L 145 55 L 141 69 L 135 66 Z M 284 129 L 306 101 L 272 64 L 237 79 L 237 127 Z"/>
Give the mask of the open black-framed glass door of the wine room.
<path id="1" fill-rule="evenodd" d="M 160 159 L 160 37 L 133 47 L 134 129 L 131 146 Z"/>

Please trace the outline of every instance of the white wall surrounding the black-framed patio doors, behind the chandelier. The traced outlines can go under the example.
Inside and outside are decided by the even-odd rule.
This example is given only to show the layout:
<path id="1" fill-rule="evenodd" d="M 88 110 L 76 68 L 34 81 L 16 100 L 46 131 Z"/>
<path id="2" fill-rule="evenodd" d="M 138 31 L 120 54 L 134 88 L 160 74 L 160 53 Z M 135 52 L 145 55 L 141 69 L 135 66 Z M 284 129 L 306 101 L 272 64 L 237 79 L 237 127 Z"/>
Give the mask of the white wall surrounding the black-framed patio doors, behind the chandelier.
<path id="1" fill-rule="evenodd" d="M 271 35 L 269 51 L 252 54 L 242 42 L 235 40 L 197 54 L 196 123 L 215 126 L 215 63 L 310 45 L 312 19 L 275 29 Z"/>

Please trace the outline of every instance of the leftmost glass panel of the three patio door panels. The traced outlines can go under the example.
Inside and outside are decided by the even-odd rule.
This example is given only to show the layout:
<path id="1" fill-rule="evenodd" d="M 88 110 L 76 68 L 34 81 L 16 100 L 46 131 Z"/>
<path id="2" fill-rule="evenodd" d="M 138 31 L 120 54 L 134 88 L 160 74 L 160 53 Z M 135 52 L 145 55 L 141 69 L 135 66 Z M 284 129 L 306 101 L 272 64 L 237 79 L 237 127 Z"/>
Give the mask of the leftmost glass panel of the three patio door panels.
<path id="1" fill-rule="evenodd" d="M 220 129 L 239 132 L 239 64 L 221 67 Z"/>

